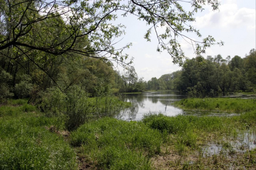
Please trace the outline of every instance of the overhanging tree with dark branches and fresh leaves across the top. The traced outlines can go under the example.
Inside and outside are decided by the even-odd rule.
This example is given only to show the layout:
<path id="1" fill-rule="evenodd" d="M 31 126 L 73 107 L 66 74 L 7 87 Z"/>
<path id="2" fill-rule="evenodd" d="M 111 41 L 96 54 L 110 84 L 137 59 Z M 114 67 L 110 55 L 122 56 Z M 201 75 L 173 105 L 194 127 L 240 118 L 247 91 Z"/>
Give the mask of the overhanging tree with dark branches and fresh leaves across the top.
<path id="1" fill-rule="evenodd" d="M 184 3 L 191 6 L 189 11 Z M 206 47 L 223 44 L 211 36 L 201 38 L 199 30 L 188 24 L 206 3 L 218 9 L 218 0 L 0 0 L 0 57 L 17 62 L 28 59 L 39 66 L 40 56 L 31 58 L 31 54 L 79 54 L 128 65 L 132 58 L 122 52 L 131 44 L 114 47 L 114 40 L 125 33 L 124 25 L 111 24 L 120 14 L 137 16 L 151 26 L 144 38 L 150 41 L 155 32 L 156 50 L 168 51 L 173 63 L 182 65 L 185 54 L 178 38 L 188 38 L 199 58 Z M 158 26 L 165 32 L 159 33 Z"/>

